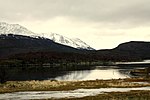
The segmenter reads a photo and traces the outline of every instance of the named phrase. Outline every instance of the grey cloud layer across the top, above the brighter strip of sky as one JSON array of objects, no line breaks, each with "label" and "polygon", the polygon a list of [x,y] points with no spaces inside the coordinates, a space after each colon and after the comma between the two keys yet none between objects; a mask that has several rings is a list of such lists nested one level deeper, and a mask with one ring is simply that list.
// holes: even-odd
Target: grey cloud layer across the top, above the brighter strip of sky
[{"label": "grey cloud layer across the top, above the brighter strip of sky", "polygon": [[150,23],[149,0],[0,0],[0,19],[47,20],[70,16],[84,21]]}]

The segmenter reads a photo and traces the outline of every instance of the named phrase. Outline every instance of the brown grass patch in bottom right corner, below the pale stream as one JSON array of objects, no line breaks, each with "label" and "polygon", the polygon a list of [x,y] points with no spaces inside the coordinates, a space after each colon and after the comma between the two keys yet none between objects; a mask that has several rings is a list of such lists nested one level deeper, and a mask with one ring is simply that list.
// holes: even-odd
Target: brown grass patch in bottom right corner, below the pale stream
[{"label": "brown grass patch in bottom right corner, below the pale stream", "polygon": [[[109,92],[81,98],[62,98],[57,100],[149,100],[150,90],[134,90],[128,92]],[[51,99],[45,99],[51,100]]]}]

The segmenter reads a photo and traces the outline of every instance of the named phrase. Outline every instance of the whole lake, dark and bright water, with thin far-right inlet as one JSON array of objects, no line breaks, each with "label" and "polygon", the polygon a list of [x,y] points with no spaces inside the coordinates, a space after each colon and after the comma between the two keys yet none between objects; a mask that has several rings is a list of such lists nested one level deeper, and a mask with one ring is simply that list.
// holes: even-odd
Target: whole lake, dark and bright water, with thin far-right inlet
[{"label": "whole lake, dark and bright water, with thin far-right inlet", "polygon": [[75,66],[79,69],[74,71],[57,70],[58,68],[52,69],[51,67],[8,68],[6,77],[10,81],[122,79],[134,77],[130,75],[130,71],[134,68],[150,66],[149,60],[143,62],[117,62],[117,64],[121,64],[121,66],[84,66],[84,70],[82,66]]}]

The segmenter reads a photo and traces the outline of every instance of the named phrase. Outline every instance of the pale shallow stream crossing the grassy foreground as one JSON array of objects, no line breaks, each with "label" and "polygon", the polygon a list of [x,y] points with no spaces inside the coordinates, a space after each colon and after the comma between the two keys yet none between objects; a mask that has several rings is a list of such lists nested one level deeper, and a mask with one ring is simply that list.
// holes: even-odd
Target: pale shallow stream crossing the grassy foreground
[{"label": "pale shallow stream crossing the grassy foreground", "polygon": [[[0,94],[0,100],[29,100],[29,99],[61,99],[85,96],[95,96],[104,92],[127,92],[130,90],[150,90],[150,87],[139,88],[100,88],[100,89],[77,89],[71,91],[37,91],[15,92]],[[147,99],[148,100],[148,99]]]}]

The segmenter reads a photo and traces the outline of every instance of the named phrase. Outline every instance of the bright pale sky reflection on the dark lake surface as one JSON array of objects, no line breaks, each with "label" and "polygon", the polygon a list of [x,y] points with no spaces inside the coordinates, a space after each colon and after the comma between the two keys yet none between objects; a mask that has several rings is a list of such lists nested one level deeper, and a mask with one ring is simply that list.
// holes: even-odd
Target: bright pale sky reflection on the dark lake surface
[{"label": "bright pale sky reflection on the dark lake surface", "polygon": [[95,80],[95,79],[119,79],[128,78],[129,69],[117,69],[114,67],[97,66],[92,70],[82,70],[82,71],[69,71],[65,75],[58,76],[55,80]]}]

